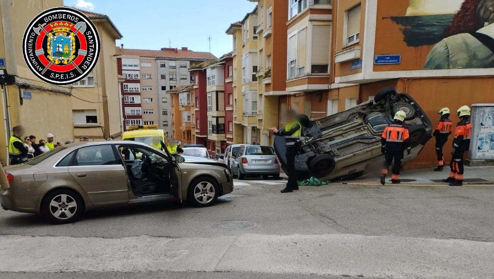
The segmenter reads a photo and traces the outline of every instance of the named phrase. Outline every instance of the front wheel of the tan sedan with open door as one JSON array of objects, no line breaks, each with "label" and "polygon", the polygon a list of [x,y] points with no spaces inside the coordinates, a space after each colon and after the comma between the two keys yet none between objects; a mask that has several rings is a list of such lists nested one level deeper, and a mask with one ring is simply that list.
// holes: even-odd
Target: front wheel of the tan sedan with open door
[{"label": "front wheel of the tan sedan with open door", "polygon": [[210,206],[216,202],[219,193],[220,188],[213,178],[198,177],[189,185],[187,201],[197,207]]}]

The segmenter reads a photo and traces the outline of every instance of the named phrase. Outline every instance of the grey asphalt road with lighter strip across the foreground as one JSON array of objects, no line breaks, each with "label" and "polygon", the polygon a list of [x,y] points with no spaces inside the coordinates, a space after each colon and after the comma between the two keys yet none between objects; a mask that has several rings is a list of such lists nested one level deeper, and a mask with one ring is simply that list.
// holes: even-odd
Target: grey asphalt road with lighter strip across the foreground
[{"label": "grey asphalt road with lighter strip across the foreground", "polygon": [[58,226],[0,209],[0,278],[494,278],[494,186],[282,182]]}]

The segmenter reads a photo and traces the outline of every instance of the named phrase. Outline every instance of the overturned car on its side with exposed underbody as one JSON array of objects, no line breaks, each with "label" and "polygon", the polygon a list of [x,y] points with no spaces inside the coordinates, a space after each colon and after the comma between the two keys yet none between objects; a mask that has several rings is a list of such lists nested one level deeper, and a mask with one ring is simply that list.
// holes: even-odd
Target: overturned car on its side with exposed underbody
[{"label": "overturned car on its side with exposed underbody", "polygon": [[[381,135],[400,110],[407,115],[404,124],[410,131],[412,152],[404,158],[408,161],[417,156],[431,138],[433,126],[410,95],[397,93],[392,87],[381,89],[373,101],[337,114],[313,121],[306,116],[299,117],[302,137],[296,142],[298,178],[355,178],[382,165]],[[274,150],[286,171],[284,137],[275,137]]]}]

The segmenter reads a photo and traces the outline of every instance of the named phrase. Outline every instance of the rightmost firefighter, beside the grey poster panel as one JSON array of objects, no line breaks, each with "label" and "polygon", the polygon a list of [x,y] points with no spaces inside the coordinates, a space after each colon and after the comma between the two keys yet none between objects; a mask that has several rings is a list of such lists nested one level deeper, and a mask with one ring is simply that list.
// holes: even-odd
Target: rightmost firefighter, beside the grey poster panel
[{"label": "rightmost firefighter, beside the grey poster panel", "polygon": [[453,140],[453,148],[451,154],[450,176],[444,179],[443,182],[449,182],[450,186],[463,185],[463,155],[470,148],[470,138],[472,137],[472,123],[470,123],[471,110],[468,106],[463,106],[458,109],[457,115],[460,122],[456,126],[455,139]]}]

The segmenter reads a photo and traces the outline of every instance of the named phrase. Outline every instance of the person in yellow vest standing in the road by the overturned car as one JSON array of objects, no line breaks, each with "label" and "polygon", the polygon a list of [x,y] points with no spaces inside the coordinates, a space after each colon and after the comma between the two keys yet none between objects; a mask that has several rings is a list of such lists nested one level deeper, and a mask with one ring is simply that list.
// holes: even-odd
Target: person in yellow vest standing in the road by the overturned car
[{"label": "person in yellow vest standing in the road by the overturned car", "polygon": [[[276,129],[273,127],[269,129],[276,136],[283,136],[286,138],[300,138],[302,136],[302,125],[297,119],[297,113],[294,110],[289,110],[285,115],[285,127]],[[294,143],[294,142],[290,142]],[[288,181],[286,187],[281,190],[281,193],[293,192],[298,190],[297,184],[297,172],[295,170],[295,156],[297,155],[297,148],[295,144],[286,144],[286,167],[288,168]]]}]

